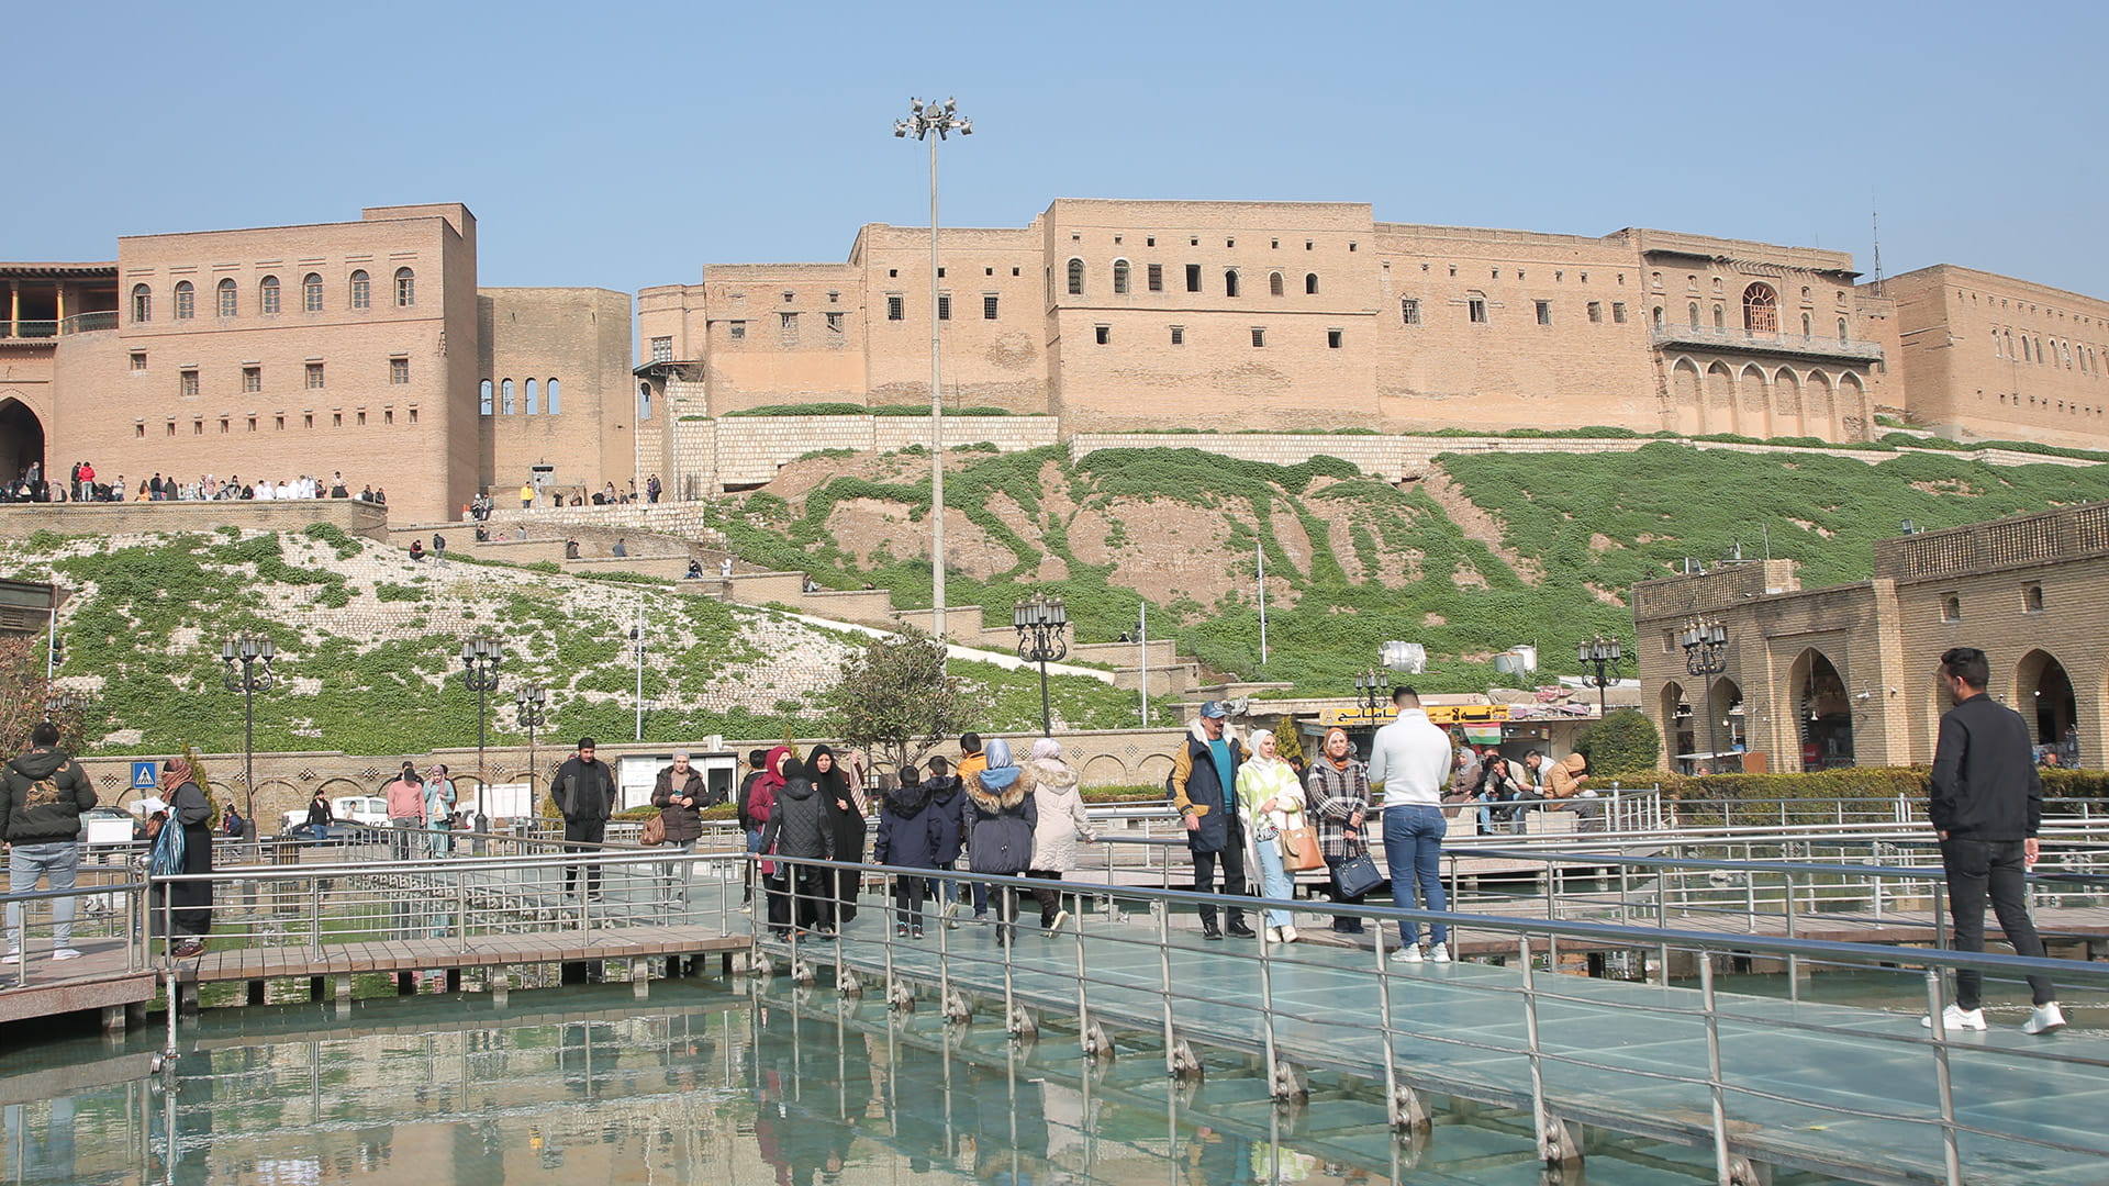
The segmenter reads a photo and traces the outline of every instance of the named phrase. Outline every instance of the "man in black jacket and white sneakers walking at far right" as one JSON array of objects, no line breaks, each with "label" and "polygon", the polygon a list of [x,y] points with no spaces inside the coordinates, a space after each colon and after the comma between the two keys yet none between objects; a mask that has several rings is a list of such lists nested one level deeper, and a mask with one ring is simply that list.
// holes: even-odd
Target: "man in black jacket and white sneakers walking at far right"
[{"label": "man in black jacket and white sneakers walking at far right", "polygon": [[[1940,865],[1949,876],[1949,914],[1955,918],[1955,950],[1985,950],[1985,897],[1999,916],[1999,929],[2014,954],[2044,958],[2044,941],[2029,918],[2027,869],[2035,863],[2035,829],[2044,819],[2044,783],[2035,777],[2029,722],[1985,694],[1991,663],[1974,646],[1949,648],[1940,656],[1940,686],[1955,707],[1940,718],[1934,743],[1932,800],[1928,817],[1940,834]],[[1942,1009],[1942,1030],[1982,1030],[1982,975],[1955,973],[1955,1005]],[[2023,1024],[2029,1034],[2065,1026],[2050,977],[2031,975],[2035,1011]],[[1930,1028],[1934,1017],[1921,1017]]]}]

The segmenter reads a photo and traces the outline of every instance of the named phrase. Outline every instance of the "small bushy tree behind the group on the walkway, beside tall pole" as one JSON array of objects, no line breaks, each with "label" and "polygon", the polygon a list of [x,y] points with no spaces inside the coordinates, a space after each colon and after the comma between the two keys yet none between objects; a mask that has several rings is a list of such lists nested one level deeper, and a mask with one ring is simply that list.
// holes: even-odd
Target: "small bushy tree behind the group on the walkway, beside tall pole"
[{"label": "small bushy tree behind the group on the walkway, beside tall pole", "polygon": [[960,684],[945,673],[945,644],[920,631],[867,642],[825,705],[841,741],[896,770],[966,724]]}]

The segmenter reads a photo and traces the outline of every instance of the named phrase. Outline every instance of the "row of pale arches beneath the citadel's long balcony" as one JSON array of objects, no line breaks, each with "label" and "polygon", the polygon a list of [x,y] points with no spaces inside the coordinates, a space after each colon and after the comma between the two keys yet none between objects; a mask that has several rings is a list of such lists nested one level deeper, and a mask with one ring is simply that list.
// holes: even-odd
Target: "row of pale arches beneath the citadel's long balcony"
[{"label": "row of pale arches beneath the citadel's long balcony", "polygon": [[1670,363],[1670,428],[1685,435],[1738,433],[1744,437],[1858,437],[1866,418],[1866,386],[1845,371],[1831,378],[1793,367],[1765,371],[1757,363],[1731,367],[1715,361],[1700,369],[1687,357]]}]

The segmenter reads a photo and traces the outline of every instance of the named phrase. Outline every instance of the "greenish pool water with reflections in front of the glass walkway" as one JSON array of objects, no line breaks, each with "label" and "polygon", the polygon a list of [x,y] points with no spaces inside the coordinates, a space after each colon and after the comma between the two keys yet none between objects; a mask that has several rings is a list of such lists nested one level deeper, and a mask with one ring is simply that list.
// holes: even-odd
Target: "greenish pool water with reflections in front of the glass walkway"
[{"label": "greenish pool water with reflections in front of the glass walkway", "polygon": [[[1054,1034],[734,983],[219,1011],[186,1028],[173,1091],[148,1072],[158,1034],[15,1051],[0,1182],[1544,1182],[1506,1110],[1451,1104],[1394,1140],[1369,1085],[1274,1108],[1238,1057],[1179,1087],[1149,1049],[1092,1068]],[[1590,1159],[1599,1182],[1713,1178],[1704,1150],[1639,1140]]]}]

